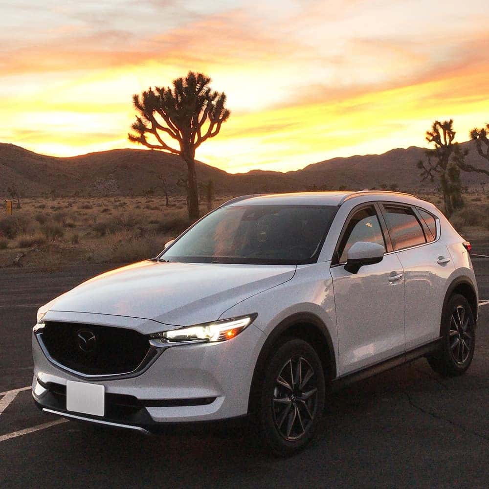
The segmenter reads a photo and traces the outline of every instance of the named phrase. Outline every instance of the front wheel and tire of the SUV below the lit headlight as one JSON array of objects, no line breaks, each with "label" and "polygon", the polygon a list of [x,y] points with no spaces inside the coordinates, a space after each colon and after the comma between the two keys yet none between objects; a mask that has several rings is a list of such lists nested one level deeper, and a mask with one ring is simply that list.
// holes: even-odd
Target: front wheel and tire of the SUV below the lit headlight
[{"label": "front wheel and tire of the SUV below the lit headlight", "polygon": [[262,443],[278,456],[302,450],[320,425],[324,398],[323,365],[312,346],[297,338],[278,343],[267,360],[255,413]]}]

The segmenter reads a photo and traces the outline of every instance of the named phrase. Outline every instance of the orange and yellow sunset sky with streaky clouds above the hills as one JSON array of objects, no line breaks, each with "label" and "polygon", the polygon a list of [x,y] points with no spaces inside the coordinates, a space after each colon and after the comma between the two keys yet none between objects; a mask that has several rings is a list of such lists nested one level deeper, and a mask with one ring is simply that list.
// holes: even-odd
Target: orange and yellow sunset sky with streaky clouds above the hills
[{"label": "orange and yellow sunset sky with streaky clouds above the hills", "polygon": [[189,69],[232,111],[197,158],[229,172],[459,141],[489,122],[485,1],[0,1],[0,141],[135,147],[131,95]]}]

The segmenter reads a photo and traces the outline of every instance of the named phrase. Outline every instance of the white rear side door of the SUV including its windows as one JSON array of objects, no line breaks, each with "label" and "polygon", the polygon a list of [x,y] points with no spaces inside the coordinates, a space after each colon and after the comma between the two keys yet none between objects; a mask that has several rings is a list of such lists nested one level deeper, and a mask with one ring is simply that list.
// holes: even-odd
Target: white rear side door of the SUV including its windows
[{"label": "white rear side door of the SUV including its windows", "polygon": [[406,350],[412,350],[439,337],[445,283],[454,266],[435,216],[399,203],[383,202],[381,209],[404,271]]}]

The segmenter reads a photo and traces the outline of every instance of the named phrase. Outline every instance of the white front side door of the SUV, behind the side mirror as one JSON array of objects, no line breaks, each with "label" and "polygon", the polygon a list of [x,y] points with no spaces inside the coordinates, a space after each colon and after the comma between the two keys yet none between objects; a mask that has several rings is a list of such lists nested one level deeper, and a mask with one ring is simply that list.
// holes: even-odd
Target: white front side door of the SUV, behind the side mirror
[{"label": "white front side door of the SUV, behind the side mirror", "polygon": [[404,352],[404,277],[396,253],[358,273],[344,267],[348,250],[357,241],[382,244],[391,251],[384,234],[378,207],[359,206],[350,214],[333,257],[340,375]]}]

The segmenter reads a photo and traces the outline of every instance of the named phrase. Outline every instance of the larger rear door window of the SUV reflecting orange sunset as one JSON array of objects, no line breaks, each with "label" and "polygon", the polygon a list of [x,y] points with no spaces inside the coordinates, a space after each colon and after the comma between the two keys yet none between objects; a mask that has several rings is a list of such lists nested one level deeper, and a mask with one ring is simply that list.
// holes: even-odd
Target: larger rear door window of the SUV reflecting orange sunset
[{"label": "larger rear door window of the SUV reflecting orange sunset", "polygon": [[426,243],[423,228],[410,207],[384,205],[384,209],[394,250]]}]

